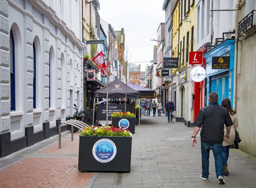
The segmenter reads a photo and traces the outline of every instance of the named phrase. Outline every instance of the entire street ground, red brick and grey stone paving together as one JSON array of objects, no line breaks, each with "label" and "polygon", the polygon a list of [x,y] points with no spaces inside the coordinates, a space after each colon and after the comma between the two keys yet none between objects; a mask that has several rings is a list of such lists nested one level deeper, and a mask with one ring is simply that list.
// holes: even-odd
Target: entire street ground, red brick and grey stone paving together
[{"label": "entire street ground, red brick and grey stone paving together", "polygon": [[[79,133],[71,142],[70,131],[0,158],[0,188],[253,188],[256,187],[256,159],[231,149],[230,175],[225,185],[215,176],[210,155],[209,180],[201,174],[200,138],[192,148],[193,127],[167,122],[167,117],[143,116],[132,140],[130,173],[79,172]],[[120,161],[122,162],[122,161]]]}]

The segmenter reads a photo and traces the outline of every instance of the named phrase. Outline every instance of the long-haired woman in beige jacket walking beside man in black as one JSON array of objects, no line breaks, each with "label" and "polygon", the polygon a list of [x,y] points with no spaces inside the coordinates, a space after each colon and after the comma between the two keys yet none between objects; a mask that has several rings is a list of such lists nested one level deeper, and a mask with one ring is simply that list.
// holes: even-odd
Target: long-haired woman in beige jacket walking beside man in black
[{"label": "long-haired woman in beige jacket walking beside man in black", "polygon": [[[229,156],[229,149],[230,146],[234,143],[236,139],[236,132],[235,128],[238,126],[238,119],[236,116],[236,111],[234,111],[231,107],[231,102],[229,98],[224,98],[223,101],[221,102],[221,106],[227,108],[228,112],[230,113],[230,117],[233,121],[233,125],[231,126],[230,130],[230,139],[225,139],[222,143],[222,159],[223,159],[223,170],[224,170],[224,175],[227,176],[229,174],[228,169],[227,169],[227,159]],[[226,134],[226,126],[224,127],[224,135]]]}]

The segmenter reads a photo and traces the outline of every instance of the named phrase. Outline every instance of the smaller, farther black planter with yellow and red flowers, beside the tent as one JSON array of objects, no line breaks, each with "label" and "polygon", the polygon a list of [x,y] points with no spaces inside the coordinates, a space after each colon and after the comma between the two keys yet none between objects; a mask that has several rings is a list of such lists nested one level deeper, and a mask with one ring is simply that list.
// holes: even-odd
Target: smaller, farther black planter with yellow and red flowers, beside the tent
[{"label": "smaller, farther black planter with yellow and red flowers, beside the tent", "polygon": [[117,128],[128,129],[135,133],[135,114],[130,112],[113,112],[111,114],[112,125]]}]

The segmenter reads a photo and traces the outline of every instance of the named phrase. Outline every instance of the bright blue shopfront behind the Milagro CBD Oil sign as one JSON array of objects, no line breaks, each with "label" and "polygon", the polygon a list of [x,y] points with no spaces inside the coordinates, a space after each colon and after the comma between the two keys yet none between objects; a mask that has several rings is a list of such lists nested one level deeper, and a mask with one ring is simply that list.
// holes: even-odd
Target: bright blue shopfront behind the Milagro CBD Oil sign
[{"label": "bright blue shopfront behind the Milagro CBD Oil sign", "polygon": [[[235,40],[226,39],[204,54],[206,59],[207,99],[209,98],[209,93],[216,92],[219,95],[219,104],[224,98],[229,98],[231,104],[233,104],[234,53]],[[229,56],[229,58],[223,58],[226,56]],[[229,59],[230,67],[228,69],[215,69],[216,67],[212,66],[213,57]],[[223,61],[219,61],[219,63],[221,64]],[[208,100],[207,104],[209,104]]]}]

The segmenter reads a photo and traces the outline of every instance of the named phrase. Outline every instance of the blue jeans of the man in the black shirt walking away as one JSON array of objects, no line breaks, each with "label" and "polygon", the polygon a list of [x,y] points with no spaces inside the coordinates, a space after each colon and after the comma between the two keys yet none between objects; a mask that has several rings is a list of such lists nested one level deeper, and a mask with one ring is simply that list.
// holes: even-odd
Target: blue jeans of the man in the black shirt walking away
[{"label": "blue jeans of the man in the black shirt walking away", "polygon": [[201,142],[202,153],[202,175],[205,178],[209,177],[209,153],[212,146],[212,153],[215,160],[215,172],[218,176],[223,176],[223,161],[222,161],[222,143],[221,144],[209,144]]}]

